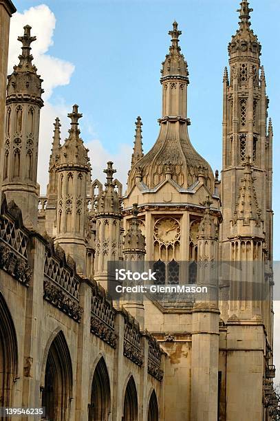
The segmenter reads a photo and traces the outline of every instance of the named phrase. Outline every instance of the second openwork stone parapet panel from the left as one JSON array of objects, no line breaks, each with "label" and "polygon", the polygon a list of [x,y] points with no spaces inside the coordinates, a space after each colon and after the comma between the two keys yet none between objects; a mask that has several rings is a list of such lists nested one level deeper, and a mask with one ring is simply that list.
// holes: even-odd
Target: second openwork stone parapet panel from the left
[{"label": "second openwork stone parapet panel from the left", "polygon": [[44,264],[44,299],[54,307],[79,322],[83,309],[78,305],[80,281],[76,266],[71,257],[65,258],[60,246],[54,248],[50,237],[45,236],[48,244],[45,248]]}]

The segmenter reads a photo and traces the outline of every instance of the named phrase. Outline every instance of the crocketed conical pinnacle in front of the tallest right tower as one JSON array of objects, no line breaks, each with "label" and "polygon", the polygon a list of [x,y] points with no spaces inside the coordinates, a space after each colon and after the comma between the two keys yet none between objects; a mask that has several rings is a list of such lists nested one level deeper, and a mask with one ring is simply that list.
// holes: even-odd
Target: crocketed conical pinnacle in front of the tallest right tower
[{"label": "crocketed conical pinnacle in front of the tallest right tower", "polygon": [[247,156],[244,162],[244,176],[240,180],[236,219],[246,219],[248,221],[249,219],[259,220],[261,218],[254,180],[250,156]]}]

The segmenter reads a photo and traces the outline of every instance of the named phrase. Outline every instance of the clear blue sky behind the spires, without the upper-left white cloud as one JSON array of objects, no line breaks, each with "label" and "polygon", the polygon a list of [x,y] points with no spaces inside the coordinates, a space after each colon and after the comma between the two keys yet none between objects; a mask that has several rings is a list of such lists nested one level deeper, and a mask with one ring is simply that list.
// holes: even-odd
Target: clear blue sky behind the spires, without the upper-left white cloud
[{"label": "clear blue sky behind the spires, without the upper-left white cloud", "polygon": [[[239,0],[20,0],[19,12],[42,3],[56,17],[47,54],[75,66],[69,84],[58,86],[49,102],[80,105],[85,142],[98,139],[107,154],[133,144],[134,122],[143,122],[144,149],[158,136],[161,114],[160,69],[168,52],[173,20],[182,30],[180,45],[189,64],[188,116],[191,141],[213,170],[222,161],[222,74],[228,42],[238,27]],[[252,0],[252,29],[262,45],[269,116],[274,127],[274,259],[280,259],[279,0]],[[42,74],[43,78],[44,75]],[[50,136],[45,142],[50,144]],[[125,145],[125,146],[124,146]],[[98,153],[91,151],[92,160]],[[125,155],[124,155],[125,156]],[[124,159],[124,166],[128,160]],[[121,162],[121,159],[120,159]],[[104,168],[101,162],[100,168]],[[96,178],[99,174],[94,174]],[[279,342],[280,347],[280,342]],[[280,353],[279,353],[280,354]]]}]

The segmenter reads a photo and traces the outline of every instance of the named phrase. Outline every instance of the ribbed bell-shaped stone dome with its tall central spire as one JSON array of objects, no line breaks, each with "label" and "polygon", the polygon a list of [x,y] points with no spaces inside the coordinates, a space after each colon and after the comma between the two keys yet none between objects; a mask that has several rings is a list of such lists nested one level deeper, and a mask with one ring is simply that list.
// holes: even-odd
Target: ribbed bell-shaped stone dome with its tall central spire
[{"label": "ribbed bell-shaped stone dome with its tall central spire", "polygon": [[187,87],[189,71],[179,46],[181,31],[177,22],[169,31],[171,46],[162,63],[162,118],[160,134],[151,151],[137,162],[133,161],[129,173],[128,192],[142,181],[149,188],[158,186],[166,177],[180,187],[188,188],[204,174],[208,188],[213,191],[214,177],[211,167],[193,148],[189,139],[187,118]]}]

